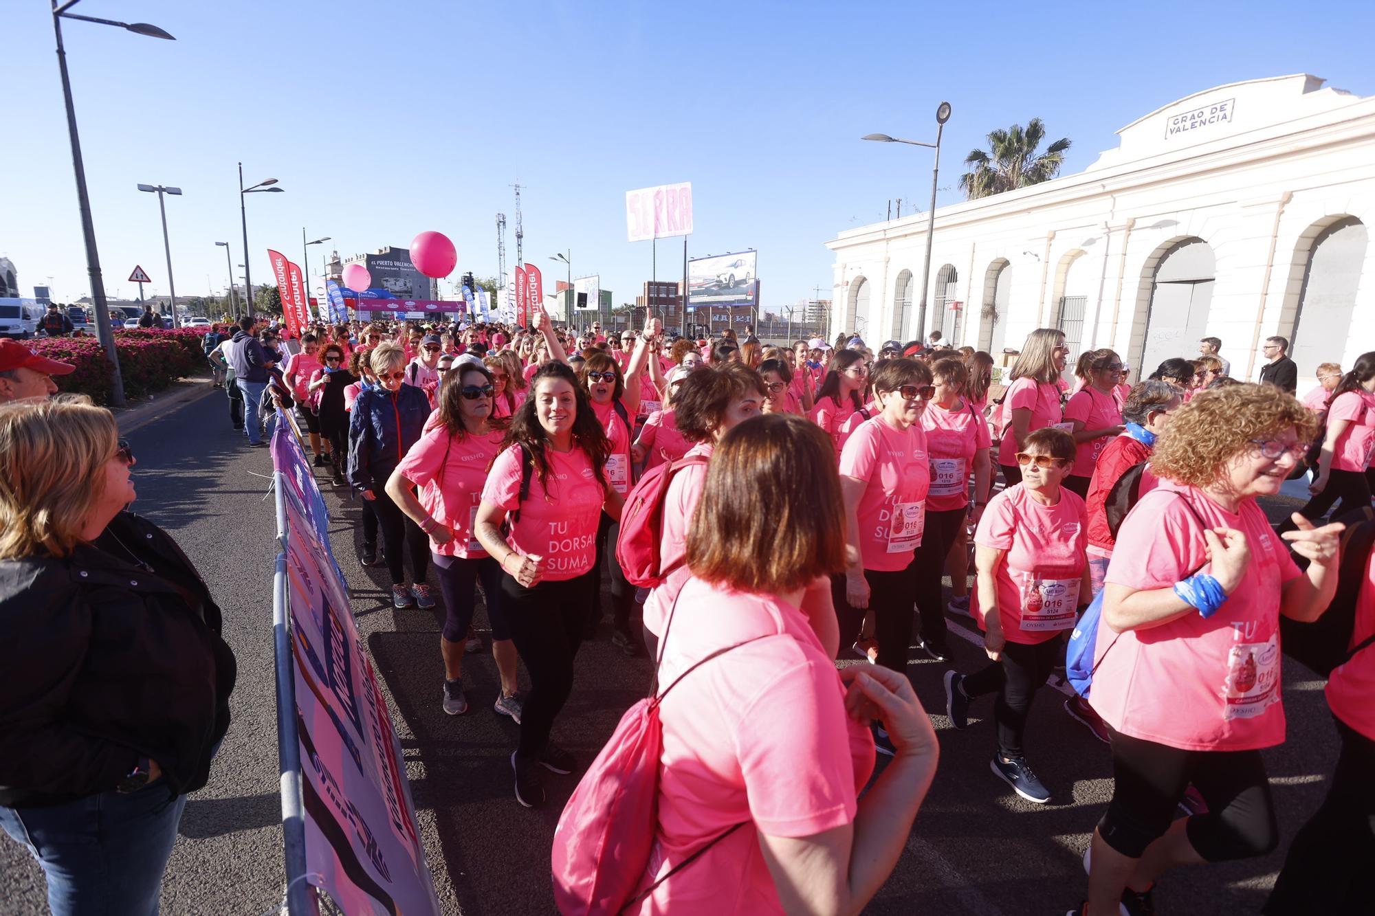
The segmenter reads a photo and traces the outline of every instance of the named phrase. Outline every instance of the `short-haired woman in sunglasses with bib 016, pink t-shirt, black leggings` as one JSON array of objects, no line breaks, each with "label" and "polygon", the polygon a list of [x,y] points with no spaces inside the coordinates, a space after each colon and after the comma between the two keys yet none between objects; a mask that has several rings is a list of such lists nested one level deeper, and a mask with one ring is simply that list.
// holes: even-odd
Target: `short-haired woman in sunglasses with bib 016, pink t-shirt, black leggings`
[{"label": "short-haired woman in sunglasses with bib 016, pink t-shirt, black leggings", "polygon": [[1074,464],[1074,437],[1045,428],[1027,435],[1016,462],[1022,481],[989,501],[975,530],[974,619],[993,662],[982,671],[946,671],[946,712],[968,725],[969,700],[997,693],[994,776],[1037,805],[1050,792],[1027,765],[1023,737],[1037,690],[1060,659],[1060,634],[1089,602],[1088,514],[1063,486]]}]

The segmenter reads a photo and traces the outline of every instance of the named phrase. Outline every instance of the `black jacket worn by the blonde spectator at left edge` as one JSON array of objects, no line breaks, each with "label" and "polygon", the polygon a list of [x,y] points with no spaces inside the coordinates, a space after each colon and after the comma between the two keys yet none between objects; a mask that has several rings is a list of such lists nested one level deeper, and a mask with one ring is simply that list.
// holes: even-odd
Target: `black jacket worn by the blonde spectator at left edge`
[{"label": "black jacket worn by the blonde spectator at left edge", "polygon": [[176,794],[209,778],[235,679],[220,608],[161,528],[107,532],[154,572],[92,545],[0,561],[0,805],[110,791],[142,756]]}]

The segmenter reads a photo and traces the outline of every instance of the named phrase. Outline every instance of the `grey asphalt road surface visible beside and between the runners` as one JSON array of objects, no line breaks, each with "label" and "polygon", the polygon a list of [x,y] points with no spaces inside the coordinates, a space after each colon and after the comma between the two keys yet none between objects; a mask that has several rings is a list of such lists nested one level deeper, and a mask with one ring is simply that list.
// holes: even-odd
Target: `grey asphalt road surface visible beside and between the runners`
[{"label": "grey asphalt road surface visible beside and between the runners", "polygon": [[[224,608],[226,637],[239,660],[234,723],[210,784],[187,805],[162,912],[256,916],[274,909],[283,887],[270,597],[274,514],[272,501],[263,499],[267,480],[256,476],[271,468],[267,450],[246,448],[221,407],[212,395],[129,439],[139,455],[135,509],[168,528],[198,564]],[[444,912],[551,913],[550,840],[575,776],[549,776],[542,810],[514,800],[507,756],[517,726],[490,708],[498,688],[491,655],[466,657],[470,711],[444,715],[439,611],[392,611],[385,571],[358,563],[356,505],[327,486],[326,502],[336,557],[402,741]],[[965,618],[952,622],[972,630]],[[485,627],[481,612],[477,626]],[[580,651],[573,696],[554,729],[556,740],[583,762],[650,677],[649,663],[622,656],[608,634],[604,624]],[[953,642],[961,671],[983,663],[976,645]],[[1081,854],[1111,796],[1107,747],[1064,714],[1064,696],[1048,685],[1031,712],[1027,754],[1055,800],[1023,802],[989,772],[991,697],[975,701],[967,732],[953,732],[940,714],[940,675],[949,666],[918,655],[913,652],[909,670],[940,733],[940,767],[906,851],[866,912],[1064,913],[1082,898]],[[1321,685],[1288,663],[1284,677],[1288,741],[1265,755],[1280,851],[1169,875],[1156,893],[1160,912],[1257,912],[1290,838],[1320,802],[1336,750]],[[0,899],[6,913],[45,912],[41,872],[8,840],[0,840]]]}]

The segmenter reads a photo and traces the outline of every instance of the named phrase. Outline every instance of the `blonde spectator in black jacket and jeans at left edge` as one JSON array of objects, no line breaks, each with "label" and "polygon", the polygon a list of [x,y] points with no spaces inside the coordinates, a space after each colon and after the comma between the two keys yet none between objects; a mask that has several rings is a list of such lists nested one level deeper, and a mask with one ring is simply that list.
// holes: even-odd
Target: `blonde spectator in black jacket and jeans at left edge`
[{"label": "blonde spectator in black jacket and jeans at left edge", "polygon": [[0,827],[43,866],[56,916],[157,912],[230,725],[220,608],[126,512],[135,459],[117,436],[84,396],[0,406]]}]

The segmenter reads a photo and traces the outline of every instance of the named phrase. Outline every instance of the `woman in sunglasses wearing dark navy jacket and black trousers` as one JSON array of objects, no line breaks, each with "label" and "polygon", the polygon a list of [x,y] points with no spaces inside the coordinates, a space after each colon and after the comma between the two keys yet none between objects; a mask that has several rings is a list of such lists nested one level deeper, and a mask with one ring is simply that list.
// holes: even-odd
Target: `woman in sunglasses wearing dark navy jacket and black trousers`
[{"label": "woman in sunglasses wearing dark navy jacket and black trousers", "polygon": [[[429,538],[386,495],[384,486],[406,452],[419,441],[430,406],[425,392],[406,384],[406,352],[396,344],[378,344],[368,351],[377,373],[377,388],[359,392],[349,417],[348,479],[363,499],[373,503],[382,534],[386,571],[392,576],[392,607],[433,608],[425,572],[429,568]],[[403,543],[408,550],[403,550]],[[410,553],[412,585],[406,586],[403,554]]]}]

